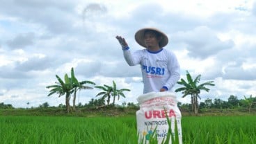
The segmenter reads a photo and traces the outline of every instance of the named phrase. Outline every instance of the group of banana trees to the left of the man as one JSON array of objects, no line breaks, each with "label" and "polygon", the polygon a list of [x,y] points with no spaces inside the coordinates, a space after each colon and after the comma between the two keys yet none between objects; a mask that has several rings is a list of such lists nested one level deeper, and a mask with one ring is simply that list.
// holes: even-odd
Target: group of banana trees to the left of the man
[{"label": "group of banana trees to the left of the man", "polygon": [[[84,80],[79,82],[77,78],[74,75],[74,68],[71,69],[71,77],[67,75],[67,73],[64,75],[64,80],[62,80],[58,75],[56,75],[56,78],[58,82],[55,82],[56,84],[47,86],[47,89],[50,89],[50,93],[48,96],[51,96],[54,93],[58,94],[58,97],[65,95],[65,107],[67,113],[70,111],[76,110],[76,98],[77,98],[77,91],[80,91],[81,89],[101,89],[102,91],[99,92],[97,96],[102,96],[102,101],[106,99],[107,106],[111,105],[110,100],[113,97],[112,105],[115,105],[115,98],[120,98],[120,96],[125,98],[124,91],[130,91],[130,89],[117,89],[115,81],[113,81],[113,85],[109,86],[107,84],[104,84],[103,86],[95,86],[95,82],[91,82],[89,80]],[[85,85],[90,84],[90,86]],[[70,107],[70,98],[73,96],[73,106]],[[102,103],[101,107],[105,107],[106,105]]]}]

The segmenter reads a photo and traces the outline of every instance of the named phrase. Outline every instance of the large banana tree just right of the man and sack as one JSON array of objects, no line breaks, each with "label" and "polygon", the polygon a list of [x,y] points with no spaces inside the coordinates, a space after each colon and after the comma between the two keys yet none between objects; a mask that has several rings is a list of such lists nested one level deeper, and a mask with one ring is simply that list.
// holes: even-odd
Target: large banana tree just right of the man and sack
[{"label": "large banana tree just right of the man and sack", "polygon": [[[181,79],[177,84],[183,85],[184,87],[180,87],[175,90],[175,92],[182,91],[182,98],[191,95],[191,105],[194,114],[198,114],[198,98],[200,98],[199,94],[201,90],[209,91],[209,89],[205,86],[214,86],[214,81],[204,82],[202,84],[197,85],[200,82],[201,75],[198,75],[195,80],[191,78],[189,71],[186,71],[186,82],[184,79]],[[201,99],[201,98],[200,98]]]}]

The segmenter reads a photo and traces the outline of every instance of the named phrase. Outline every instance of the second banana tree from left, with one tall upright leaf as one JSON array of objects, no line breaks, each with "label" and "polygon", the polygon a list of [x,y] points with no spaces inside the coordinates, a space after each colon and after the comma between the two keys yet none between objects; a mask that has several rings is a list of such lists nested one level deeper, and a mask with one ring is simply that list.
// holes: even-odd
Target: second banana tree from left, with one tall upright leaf
[{"label": "second banana tree from left, with one tall upright leaf", "polygon": [[84,80],[82,82],[79,82],[77,78],[74,76],[74,68],[71,69],[71,80],[73,84],[73,91],[74,92],[74,97],[73,97],[73,110],[76,110],[76,98],[77,98],[77,91],[80,91],[81,89],[93,89],[93,87],[88,87],[83,84],[94,84],[94,82],[90,82],[88,80]]}]

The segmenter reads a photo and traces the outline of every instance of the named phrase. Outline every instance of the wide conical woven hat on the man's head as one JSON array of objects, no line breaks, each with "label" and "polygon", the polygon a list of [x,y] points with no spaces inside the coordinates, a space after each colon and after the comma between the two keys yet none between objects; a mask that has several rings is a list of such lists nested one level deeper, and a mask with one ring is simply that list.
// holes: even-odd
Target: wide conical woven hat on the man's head
[{"label": "wide conical woven hat on the man's head", "polygon": [[141,30],[138,30],[135,33],[135,40],[139,45],[147,48],[147,46],[145,45],[145,41],[144,41],[145,30],[154,30],[161,35],[161,40],[159,42],[160,48],[163,48],[164,46],[166,46],[168,44],[168,37],[165,33],[161,32],[161,30],[158,30],[157,28],[142,28]]}]

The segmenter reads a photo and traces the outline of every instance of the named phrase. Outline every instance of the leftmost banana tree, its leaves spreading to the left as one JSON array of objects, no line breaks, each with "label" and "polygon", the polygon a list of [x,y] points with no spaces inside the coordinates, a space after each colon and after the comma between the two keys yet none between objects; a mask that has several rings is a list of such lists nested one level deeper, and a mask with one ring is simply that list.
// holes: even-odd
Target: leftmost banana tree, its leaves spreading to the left
[{"label": "leftmost banana tree, its leaves spreading to the left", "polygon": [[72,93],[72,89],[73,89],[73,84],[72,84],[72,80],[70,78],[68,78],[67,73],[64,76],[64,81],[61,80],[61,78],[56,75],[56,78],[58,80],[58,82],[56,82],[55,85],[50,85],[47,86],[47,89],[52,88],[48,94],[48,96],[51,96],[54,93],[58,94],[58,97],[61,97],[63,95],[65,95],[65,103],[66,103],[66,111],[67,113],[70,112],[70,95]]}]

